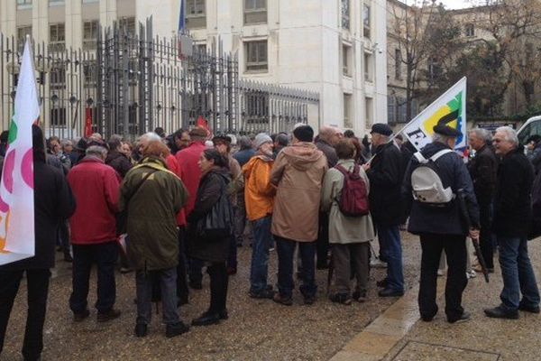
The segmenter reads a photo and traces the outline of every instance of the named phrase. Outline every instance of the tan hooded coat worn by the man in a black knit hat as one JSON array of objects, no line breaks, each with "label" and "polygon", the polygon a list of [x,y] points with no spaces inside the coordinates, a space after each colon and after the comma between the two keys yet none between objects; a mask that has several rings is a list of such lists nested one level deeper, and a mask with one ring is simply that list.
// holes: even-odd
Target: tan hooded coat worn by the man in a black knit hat
[{"label": "tan hooded coat worn by the man in a black knit hat", "polygon": [[316,240],[326,170],[326,157],[313,143],[295,143],[278,154],[271,171],[271,183],[278,187],[272,213],[273,235],[298,242]]}]

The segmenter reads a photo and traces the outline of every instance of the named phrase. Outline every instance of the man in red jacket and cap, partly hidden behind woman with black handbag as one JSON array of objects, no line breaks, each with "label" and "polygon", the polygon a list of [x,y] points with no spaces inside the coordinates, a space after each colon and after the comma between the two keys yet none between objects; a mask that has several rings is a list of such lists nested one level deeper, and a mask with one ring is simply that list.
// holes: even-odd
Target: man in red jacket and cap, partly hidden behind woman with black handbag
[{"label": "man in red jacket and cap, partly hidden behind woman with black handbag", "polygon": [[[181,180],[188,190],[188,204],[186,205],[186,217],[194,209],[196,204],[197,188],[199,187],[199,180],[201,180],[201,170],[197,165],[201,153],[205,151],[206,130],[200,127],[195,127],[189,132],[191,143],[188,148],[177,152],[175,155],[177,161],[179,161]],[[200,290],[202,288],[201,282],[203,280],[203,273],[201,268],[203,264],[197,260],[189,260],[189,285],[195,289]]]}]

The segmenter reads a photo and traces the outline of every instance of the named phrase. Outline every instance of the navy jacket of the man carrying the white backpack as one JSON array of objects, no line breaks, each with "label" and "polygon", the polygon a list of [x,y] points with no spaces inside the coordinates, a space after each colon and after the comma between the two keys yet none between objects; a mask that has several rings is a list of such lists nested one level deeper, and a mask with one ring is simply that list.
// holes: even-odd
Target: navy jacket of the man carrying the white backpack
[{"label": "navy jacket of the man carrying the white backpack", "polygon": [[[430,158],[437,152],[448,149],[443,143],[429,143],[421,151],[425,158]],[[408,231],[415,235],[434,233],[441,235],[466,236],[468,229],[465,226],[460,212],[459,202],[454,200],[445,208],[430,207],[413,199],[411,187],[411,173],[417,167],[418,162],[414,157],[409,162],[408,170],[402,184],[402,199],[404,208],[409,213]],[[457,153],[447,153],[436,161],[444,187],[451,187],[454,194],[463,190],[469,202],[472,225],[479,225],[479,206],[473,193],[473,184],[466,165]],[[410,210],[410,211],[409,211]]]}]

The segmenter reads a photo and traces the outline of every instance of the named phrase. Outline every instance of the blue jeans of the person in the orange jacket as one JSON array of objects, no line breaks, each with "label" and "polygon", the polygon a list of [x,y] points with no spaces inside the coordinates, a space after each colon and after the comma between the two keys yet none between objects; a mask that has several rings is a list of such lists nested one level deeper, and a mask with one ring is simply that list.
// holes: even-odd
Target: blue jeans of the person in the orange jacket
[{"label": "blue jeans of the person in the orange jacket", "polygon": [[267,287],[269,271],[269,249],[272,244],[271,216],[252,222],[252,265],[250,268],[250,283],[252,292],[262,292]]}]

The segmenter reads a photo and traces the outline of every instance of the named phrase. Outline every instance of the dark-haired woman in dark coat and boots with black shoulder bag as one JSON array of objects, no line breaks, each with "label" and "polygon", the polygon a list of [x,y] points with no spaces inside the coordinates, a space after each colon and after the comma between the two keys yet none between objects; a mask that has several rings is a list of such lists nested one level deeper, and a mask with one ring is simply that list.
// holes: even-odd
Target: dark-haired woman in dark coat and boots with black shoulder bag
[{"label": "dark-haired woman in dark coat and boots with black shoulder bag", "polygon": [[[197,189],[196,207],[188,217],[188,255],[204,261],[210,276],[210,307],[199,318],[192,321],[193,326],[216,324],[227,319],[225,302],[227,299],[227,267],[225,261],[229,251],[231,235],[203,238],[197,232],[197,222],[206,217],[221,196],[227,192],[231,182],[228,161],[215,149],[207,149],[198,162],[201,180]],[[229,197],[225,197],[227,201]],[[231,225],[230,229],[233,229]]]}]

